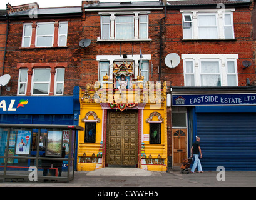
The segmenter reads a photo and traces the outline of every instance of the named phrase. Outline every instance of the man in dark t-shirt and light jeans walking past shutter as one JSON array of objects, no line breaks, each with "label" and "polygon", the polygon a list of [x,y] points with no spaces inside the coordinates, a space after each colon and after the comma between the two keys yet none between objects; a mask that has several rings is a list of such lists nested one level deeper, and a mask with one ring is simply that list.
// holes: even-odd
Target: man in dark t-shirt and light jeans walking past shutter
[{"label": "man in dark t-shirt and light jeans walking past shutter", "polygon": [[200,154],[200,158],[202,158],[200,138],[197,137],[196,141],[192,144],[192,148],[191,148],[191,157],[192,156],[194,157],[194,164],[192,166],[190,173],[195,173],[195,168],[198,168],[198,173],[203,173],[203,169],[199,159],[199,154]]}]

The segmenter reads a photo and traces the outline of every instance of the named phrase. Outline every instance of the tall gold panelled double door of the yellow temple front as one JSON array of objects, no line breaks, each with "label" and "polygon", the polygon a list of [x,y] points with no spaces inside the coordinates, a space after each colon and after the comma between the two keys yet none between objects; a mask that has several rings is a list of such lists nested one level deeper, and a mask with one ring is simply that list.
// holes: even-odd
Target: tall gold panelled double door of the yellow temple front
[{"label": "tall gold panelled double door of the yellow temple front", "polygon": [[136,166],[138,164],[138,112],[108,112],[106,164]]}]

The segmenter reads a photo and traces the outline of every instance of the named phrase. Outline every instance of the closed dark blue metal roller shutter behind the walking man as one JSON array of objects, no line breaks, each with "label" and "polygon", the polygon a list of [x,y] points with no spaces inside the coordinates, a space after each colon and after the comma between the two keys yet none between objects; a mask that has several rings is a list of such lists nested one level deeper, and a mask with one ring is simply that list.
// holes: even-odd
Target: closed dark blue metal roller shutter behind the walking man
[{"label": "closed dark blue metal roller shutter behind the walking man", "polygon": [[256,170],[256,114],[197,113],[203,170]]}]

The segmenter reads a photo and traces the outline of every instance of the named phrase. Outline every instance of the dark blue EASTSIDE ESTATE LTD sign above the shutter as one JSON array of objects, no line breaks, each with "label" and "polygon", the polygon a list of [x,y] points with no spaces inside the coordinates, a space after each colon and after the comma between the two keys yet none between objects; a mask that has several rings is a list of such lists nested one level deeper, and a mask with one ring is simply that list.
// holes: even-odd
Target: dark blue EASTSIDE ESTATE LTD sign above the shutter
[{"label": "dark blue EASTSIDE ESTATE LTD sign above the shutter", "polygon": [[172,95],[172,106],[256,105],[256,94],[180,94]]}]

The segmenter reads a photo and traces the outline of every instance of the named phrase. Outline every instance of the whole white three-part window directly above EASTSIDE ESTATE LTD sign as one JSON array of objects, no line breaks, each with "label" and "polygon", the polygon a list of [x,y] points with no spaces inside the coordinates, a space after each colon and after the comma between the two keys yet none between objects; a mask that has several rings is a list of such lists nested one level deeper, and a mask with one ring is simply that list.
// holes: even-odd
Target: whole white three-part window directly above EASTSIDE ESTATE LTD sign
[{"label": "whole white three-part window directly above EASTSIDE ESTATE LTD sign", "polygon": [[238,86],[238,54],[183,54],[185,86]]}]

